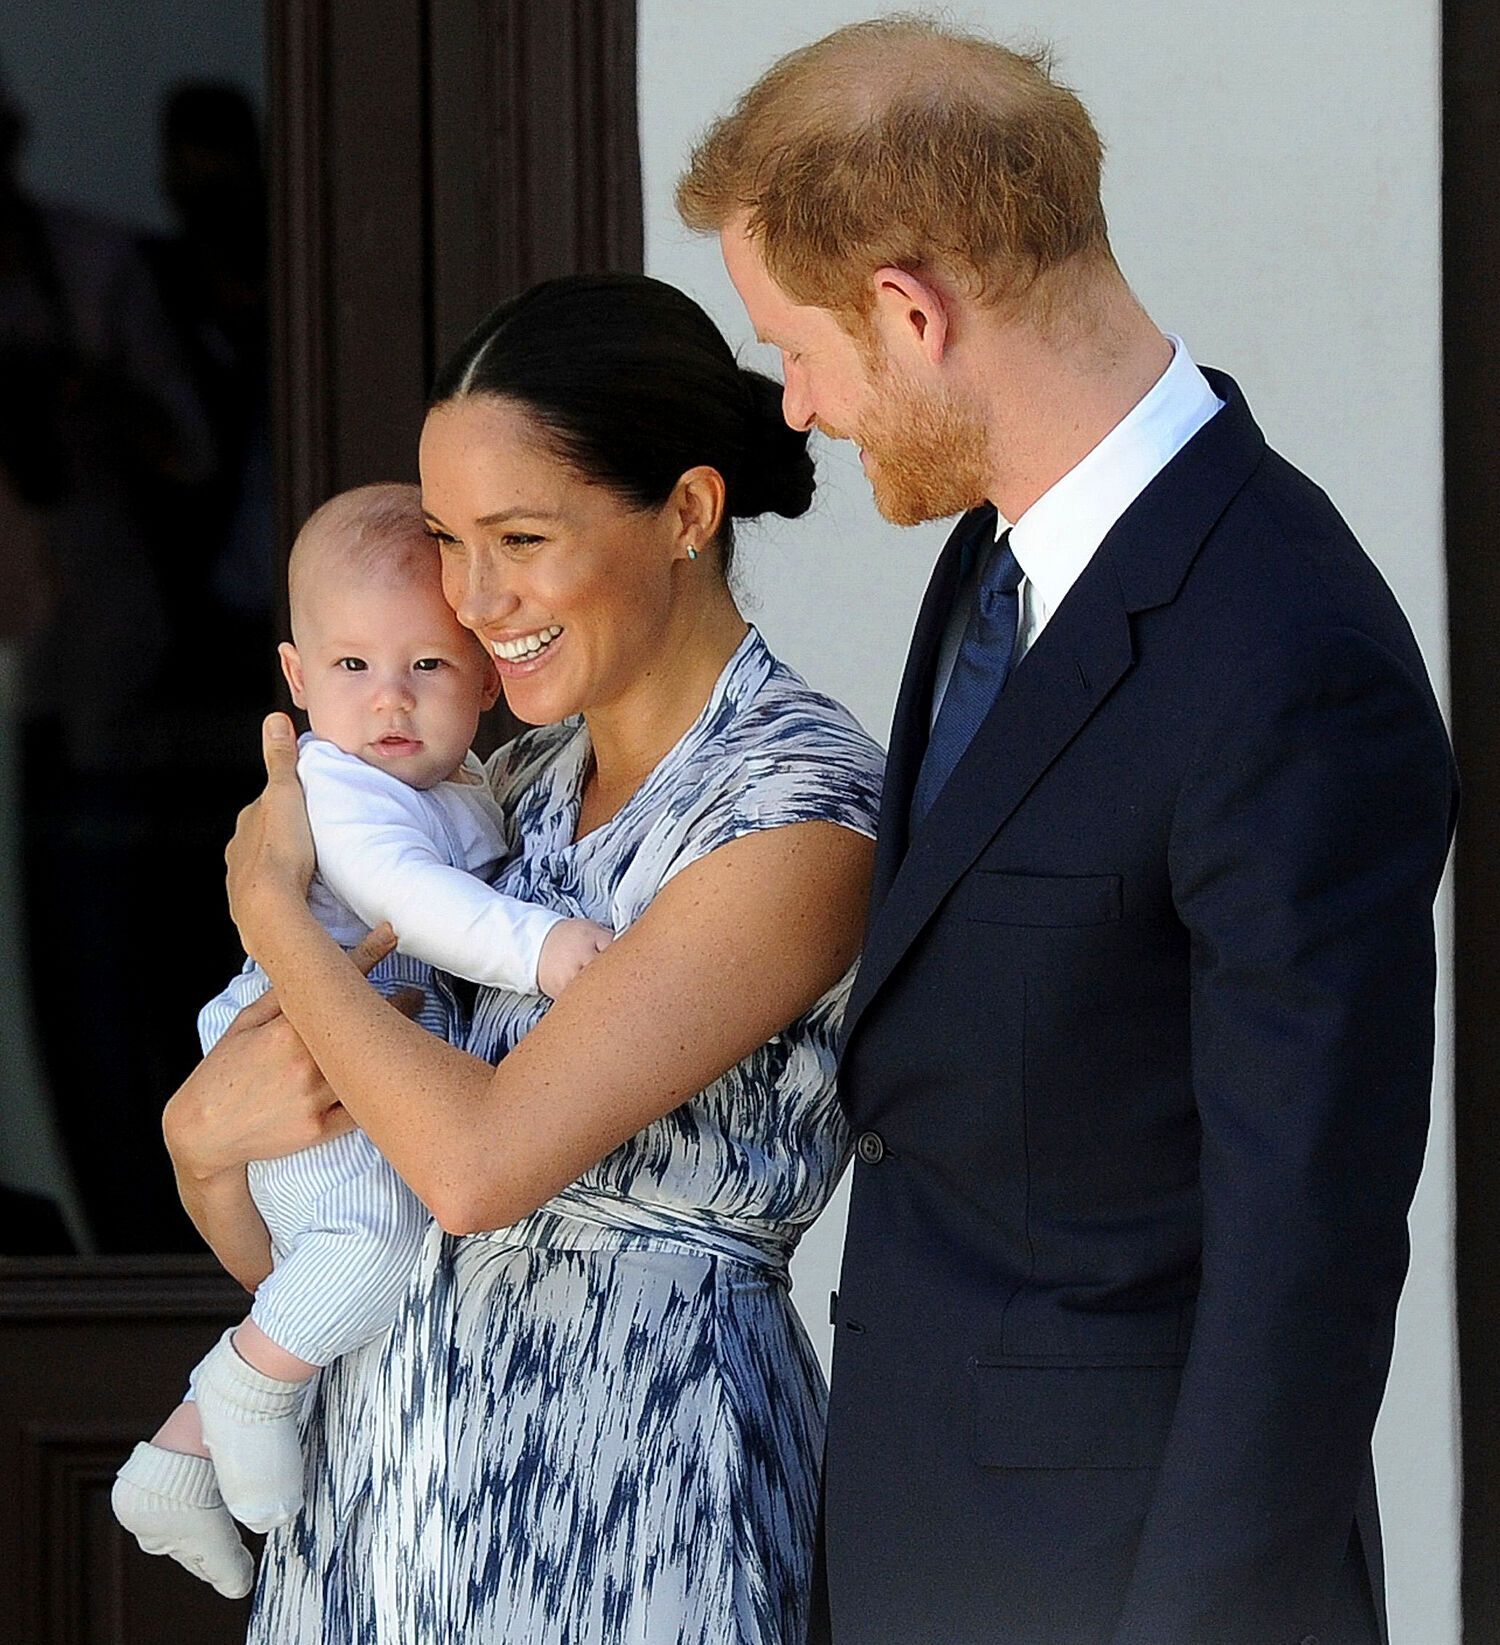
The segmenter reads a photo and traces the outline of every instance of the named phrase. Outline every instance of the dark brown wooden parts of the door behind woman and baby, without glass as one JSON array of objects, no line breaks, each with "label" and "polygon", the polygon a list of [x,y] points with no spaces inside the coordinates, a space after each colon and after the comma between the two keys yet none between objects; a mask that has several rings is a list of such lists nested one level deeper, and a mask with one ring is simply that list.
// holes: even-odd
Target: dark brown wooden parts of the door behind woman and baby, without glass
[{"label": "dark brown wooden parts of the door behind woman and baby, without glass", "polygon": [[[635,3],[271,0],[268,117],[285,554],[331,492],[414,477],[434,364],[488,308],[640,268]],[[207,1257],[0,1258],[0,1640],[243,1638],[109,1487],[245,1301]]]}]

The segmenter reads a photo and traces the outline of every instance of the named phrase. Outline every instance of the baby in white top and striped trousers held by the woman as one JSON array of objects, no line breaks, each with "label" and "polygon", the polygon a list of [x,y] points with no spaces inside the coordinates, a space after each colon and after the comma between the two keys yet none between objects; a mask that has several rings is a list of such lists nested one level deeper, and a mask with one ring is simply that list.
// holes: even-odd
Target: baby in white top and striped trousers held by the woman
[{"label": "baby in white top and striped trousers held by the woman", "polygon": [[[324,503],[293,544],[289,581],[281,668],[312,727],[298,776],[317,850],[308,895],[324,928],[352,948],[390,921],[398,951],[370,980],[421,989],[436,1033],[447,1013],[433,967],[556,997],[610,933],[487,883],[505,826],[469,745],[500,681],[442,599],[416,487],[365,485]],[[247,961],[199,1017],[204,1051],[266,987]],[[235,1599],[253,1564],[230,1515],[252,1530],[296,1515],[303,1390],[390,1328],[431,1222],[363,1132],[253,1163],[248,1179],[275,1270],[112,1495],[146,1553],[169,1553]]]}]

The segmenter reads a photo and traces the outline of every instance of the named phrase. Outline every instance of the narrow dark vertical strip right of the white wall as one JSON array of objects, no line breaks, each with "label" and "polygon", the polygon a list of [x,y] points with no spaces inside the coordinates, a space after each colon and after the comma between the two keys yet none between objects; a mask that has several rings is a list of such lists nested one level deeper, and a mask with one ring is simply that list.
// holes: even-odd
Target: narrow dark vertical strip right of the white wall
[{"label": "narrow dark vertical strip right of the white wall", "polygon": [[1500,1645],[1500,8],[1442,8],[1442,378],[1452,725],[1464,1640]]}]

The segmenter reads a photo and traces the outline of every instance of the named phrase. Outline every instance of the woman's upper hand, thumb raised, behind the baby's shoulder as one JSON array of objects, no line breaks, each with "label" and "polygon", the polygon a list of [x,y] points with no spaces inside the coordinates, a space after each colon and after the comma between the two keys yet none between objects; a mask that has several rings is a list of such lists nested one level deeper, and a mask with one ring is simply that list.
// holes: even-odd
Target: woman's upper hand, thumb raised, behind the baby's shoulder
[{"label": "woman's upper hand, thumb raised, behind the baby's shoulder", "polygon": [[308,804],[296,775],[296,737],[285,714],[268,714],[262,730],[266,786],[238,816],[224,852],[229,913],[245,952],[255,956],[268,921],[304,911],[316,857]]}]

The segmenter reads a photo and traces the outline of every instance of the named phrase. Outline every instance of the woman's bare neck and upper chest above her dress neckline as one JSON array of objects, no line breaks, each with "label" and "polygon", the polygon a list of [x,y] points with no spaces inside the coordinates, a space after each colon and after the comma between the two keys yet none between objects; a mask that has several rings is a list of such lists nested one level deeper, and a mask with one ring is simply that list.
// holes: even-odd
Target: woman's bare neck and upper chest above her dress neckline
[{"label": "woman's bare neck and upper chest above her dress neckline", "polygon": [[646,670],[630,691],[584,719],[592,745],[592,772],[584,785],[579,836],[607,822],[704,711],[725,663],[748,632],[725,591],[673,632],[661,668]]}]

